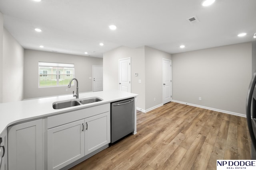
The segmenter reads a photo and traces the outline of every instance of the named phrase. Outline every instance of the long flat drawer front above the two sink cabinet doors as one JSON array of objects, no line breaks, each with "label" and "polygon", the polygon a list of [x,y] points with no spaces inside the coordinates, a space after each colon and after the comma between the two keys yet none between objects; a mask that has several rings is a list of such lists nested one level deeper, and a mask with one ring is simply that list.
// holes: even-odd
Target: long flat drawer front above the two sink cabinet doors
[{"label": "long flat drawer front above the two sink cabinet doors", "polygon": [[110,104],[71,111],[47,118],[47,129],[110,111]]}]

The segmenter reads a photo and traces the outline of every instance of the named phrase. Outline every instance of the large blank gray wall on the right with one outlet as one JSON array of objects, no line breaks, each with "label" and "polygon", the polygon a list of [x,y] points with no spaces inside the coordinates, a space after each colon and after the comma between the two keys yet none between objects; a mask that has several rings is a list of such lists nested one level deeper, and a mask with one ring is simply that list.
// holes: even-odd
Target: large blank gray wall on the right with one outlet
[{"label": "large blank gray wall on the right with one outlet", "polygon": [[251,42],[172,55],[176,101],[245,115],[251,77]]}]

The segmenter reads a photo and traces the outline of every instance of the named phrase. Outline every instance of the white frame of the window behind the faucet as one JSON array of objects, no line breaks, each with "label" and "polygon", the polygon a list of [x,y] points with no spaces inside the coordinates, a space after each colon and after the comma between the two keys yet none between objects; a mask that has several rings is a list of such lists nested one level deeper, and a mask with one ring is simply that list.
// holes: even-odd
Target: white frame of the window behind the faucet
[{"label": "white frame of the window behind the faucet", "polygon": [[[48,66],[48,67],[51,67],[51,66],[54,66],[54,67],[57,67],[57,70],[56,70],[56,84],[55,86],[40,86],[40,77],[42,77],[43,75],[45,74],[40,74],[40,67],[44,67],[44,66]],[[75,65],[74,64],[66,64],[66,63],[48,63],[48,62],[38,62],[38,88],[48,88],[48,87],[61,87],[61,86],[67,86],[66,84],[65,85],[60,85],[59,84],[59,81],[60,81],[60,76],[61,75],[65,75],[66,74],[60,74],[60,70],[59,68],[60,67],[64,67],[64,68],[70,68],[73,71],[73,74],[71,74],[71,71],[69,70],[69,76],[73,75],[73,77],[75,78]],[[47,76],[44,76],[44,77],[48,77],[48,70],[41,70],[41,71],[46,71],[47,72]],[[41,76],[42,75],[42,76]],[[74,86],[74,82],[72,82],[71,84],[72,86]]]}]

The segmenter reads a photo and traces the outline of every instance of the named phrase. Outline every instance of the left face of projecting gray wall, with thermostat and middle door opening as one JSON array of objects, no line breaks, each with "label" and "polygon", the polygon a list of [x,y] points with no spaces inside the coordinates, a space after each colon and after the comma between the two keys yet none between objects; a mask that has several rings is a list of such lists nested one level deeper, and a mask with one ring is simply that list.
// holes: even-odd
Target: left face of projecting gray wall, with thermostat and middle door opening
[{"label": "left face of projecting gray wall, with thermostat and middle door opening", "polygon": [[[131,92],[138,94],[137,107],[145,109],[144,47],[118,47],[103,54],[103,90],[118,90],[118,60],[131,58]],[[134,76],[138,73],[138,76]],[[138,80],[142,80],[138,83]]]}]

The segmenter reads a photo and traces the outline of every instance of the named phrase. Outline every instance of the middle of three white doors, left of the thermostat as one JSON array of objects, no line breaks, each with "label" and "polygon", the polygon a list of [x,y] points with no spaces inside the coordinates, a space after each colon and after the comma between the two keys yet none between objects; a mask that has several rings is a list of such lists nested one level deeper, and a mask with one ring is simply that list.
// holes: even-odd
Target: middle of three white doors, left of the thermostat
[{"label": "middle of three white doors, left of the thermostat", "polygon": [[119,90],[131,92],[131,58],[119,60]]}]

